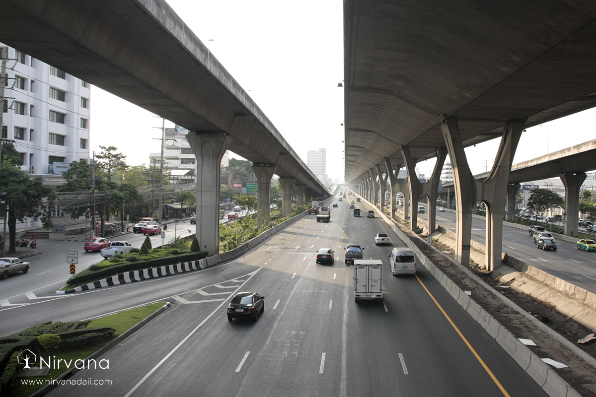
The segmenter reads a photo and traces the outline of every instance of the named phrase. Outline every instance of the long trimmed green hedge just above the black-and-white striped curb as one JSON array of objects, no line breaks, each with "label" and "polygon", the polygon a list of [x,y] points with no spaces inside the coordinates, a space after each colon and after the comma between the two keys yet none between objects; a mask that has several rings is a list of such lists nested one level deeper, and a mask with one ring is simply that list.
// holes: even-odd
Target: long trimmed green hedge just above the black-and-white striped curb
[{"label": "long trimmed green hedge just above the black-and-white striped curb", "polygon": [[207,251],[190,252],[188,254],[173,255],[171,257],[155,258],[138,262],[121,262],[113,266],[100,267],[98,270],[91,270],[89,267],[77,274],[74,279],[69,279],[67,285],[84,284],[115,276],[116,274],[126,273],[132,270],[141,270],[150,267],[161,267],[178,262],[193,262],[207,257]]}]

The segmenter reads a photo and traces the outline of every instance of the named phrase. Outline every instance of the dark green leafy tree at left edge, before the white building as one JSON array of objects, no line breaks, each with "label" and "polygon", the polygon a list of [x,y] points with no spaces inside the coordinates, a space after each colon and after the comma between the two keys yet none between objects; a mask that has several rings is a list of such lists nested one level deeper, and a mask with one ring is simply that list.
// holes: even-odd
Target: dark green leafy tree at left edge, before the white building
[{"label": "dark green leafy tree at left edge, before the white building", "polygon": [[27,171],[22,171],[21,156],[12,143],[2,143],[2,157],[0,158],[0,192],[8,210],[9,254],[17,251],[14,240],[17,233],[17,220],[25,217],[41,218],[45,228],[52,226],[48,204],[55,199],[55,192],[51,186],[45,186],[42,177],[30,177]]}]

